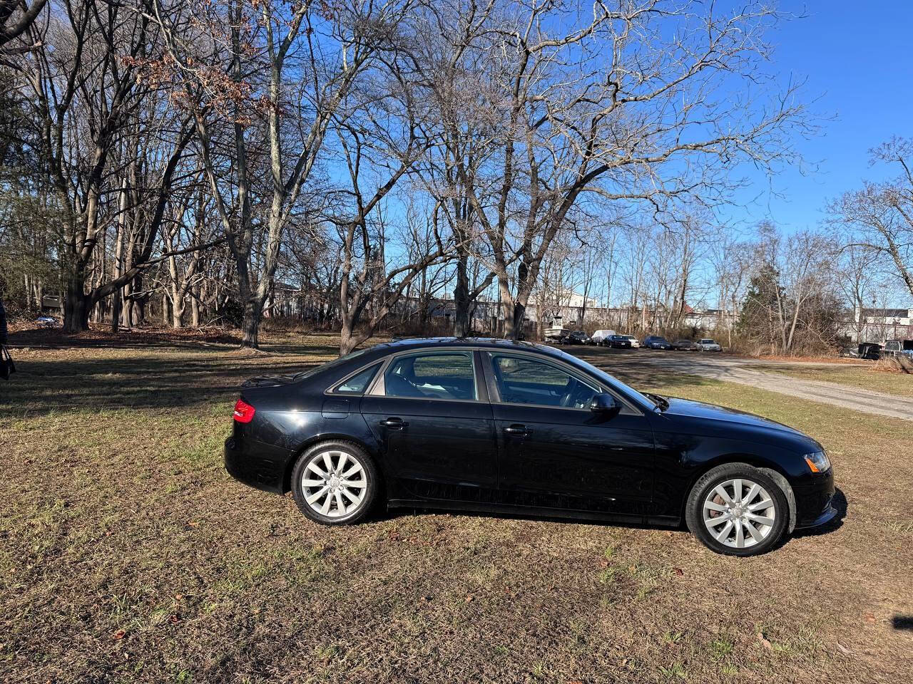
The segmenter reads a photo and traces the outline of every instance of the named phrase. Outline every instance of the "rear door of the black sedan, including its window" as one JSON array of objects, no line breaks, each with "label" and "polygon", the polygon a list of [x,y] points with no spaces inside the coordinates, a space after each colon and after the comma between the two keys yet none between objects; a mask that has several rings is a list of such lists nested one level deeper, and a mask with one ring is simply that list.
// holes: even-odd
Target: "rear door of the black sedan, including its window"
[{"label": "rear door of the black sedan, including its window", "polygon": [[475,351],[394,356],[361,410],[394,479],[391,498],[491,503],[497,444]]}]

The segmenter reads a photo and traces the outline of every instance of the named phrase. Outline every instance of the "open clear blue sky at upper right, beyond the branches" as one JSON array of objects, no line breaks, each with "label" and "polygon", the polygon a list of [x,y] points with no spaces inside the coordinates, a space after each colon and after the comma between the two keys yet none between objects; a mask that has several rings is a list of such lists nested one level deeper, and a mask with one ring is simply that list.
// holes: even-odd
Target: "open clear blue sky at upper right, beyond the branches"
[{"label": "open clear blue sky at upper right, beyond the branches", "polygon": [[[895,171],[870,167],[868,150],[894,135],[913,136],[913,3],[908,0],[781,2],[784,12],[806,14],[784,21],[769,37],[774,73],[807,78],[806,101],[824,117],[819,135],[797,145],[810,162],[803,175],[786,169],[769,179],[750,172],[749,188],[730,218],[757,223],[770,218],[787,230],[813,227],[826,202],[864,179]],[[782,197],[771,192],[779,192]]]}]

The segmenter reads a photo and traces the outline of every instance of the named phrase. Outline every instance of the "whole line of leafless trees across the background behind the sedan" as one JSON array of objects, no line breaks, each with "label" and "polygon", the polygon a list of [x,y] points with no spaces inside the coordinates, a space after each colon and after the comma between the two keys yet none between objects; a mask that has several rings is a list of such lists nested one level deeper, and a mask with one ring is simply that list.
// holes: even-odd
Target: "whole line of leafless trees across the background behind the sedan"
[{"label": "whole line of leafless trees across the background behind the sedan", "polygon": [[345,353],[404,298],[452,298],[464,335],[493,294],[517,337],[571,279],[644,327],[754,302],[737,333],[790,350],[846,302],[823,274],[858,267],[854,304],[888,271],[913,293],[913,182],[895,140],[876,153],[903,175],[834,202],[829,229],[720,223],[740,163],[776,171],[814,132],[800,86],[765,71],[779,20],[688,0],[0,0],[0,286],[27,310],[60,293],[68,332],[154,303],[257,347],[291,285]]}]

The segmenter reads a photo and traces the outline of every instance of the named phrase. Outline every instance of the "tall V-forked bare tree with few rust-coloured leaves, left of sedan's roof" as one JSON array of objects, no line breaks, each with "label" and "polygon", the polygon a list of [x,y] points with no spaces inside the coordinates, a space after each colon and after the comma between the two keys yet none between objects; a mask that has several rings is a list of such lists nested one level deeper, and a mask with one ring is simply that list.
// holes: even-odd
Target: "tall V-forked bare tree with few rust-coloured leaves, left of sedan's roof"
[{"label": "tall V-forked bare tree with few rust-coloured leaves, left of sedan's roof", "polygon": [[[344,118],[356,80],[395,43],[403,5],[226,0],[207,4],[203,17],[197,9],[160,0],[152,5],[168,57],[183,78],[206,177],[235,258],[244,306],[242,346],[257,347],[283,233],[301,188],[331,120]],[[227,128],[220,130],[223,120]],[[264,175],[266,181],[258,183]],[[255,196],[262,196],[262,209]],[[256,254],[261,230],[266,239]]]}]

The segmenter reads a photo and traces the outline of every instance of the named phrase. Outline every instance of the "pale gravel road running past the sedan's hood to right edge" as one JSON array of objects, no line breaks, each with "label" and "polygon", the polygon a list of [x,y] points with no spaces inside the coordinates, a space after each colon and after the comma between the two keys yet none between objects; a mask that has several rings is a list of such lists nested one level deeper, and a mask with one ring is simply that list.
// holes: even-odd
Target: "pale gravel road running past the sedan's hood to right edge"
[{"label": "pale gravel road running past the sedan's hood to right edge", "polygon": [[[581,355],[583,356],[583,355]],[[599,358],[587,354],[587,360],[601,365]],[[771,372],[766,368],[782,365],[788,367],[801,363],[804,366],[820,366],[808,362],[775,362],[754,358],[739,358],[701,352],[653,352],[640,350],[635,352],[615,353],[612,355],[613,366],[637,366],[641,368],[673,369],[702,378],[713,378],[740,385],[750,385],[771,392],[779,392],[800,399],[818,401],[844,409],[854,409],[876,416],[889,416],[904,420],[913,420],[913,399],[860,389],[848,385],[821,380],[805,380]],[[751,368],[763,365],[764,370]],[[608,369],[608,365],[604,368]]]}]

